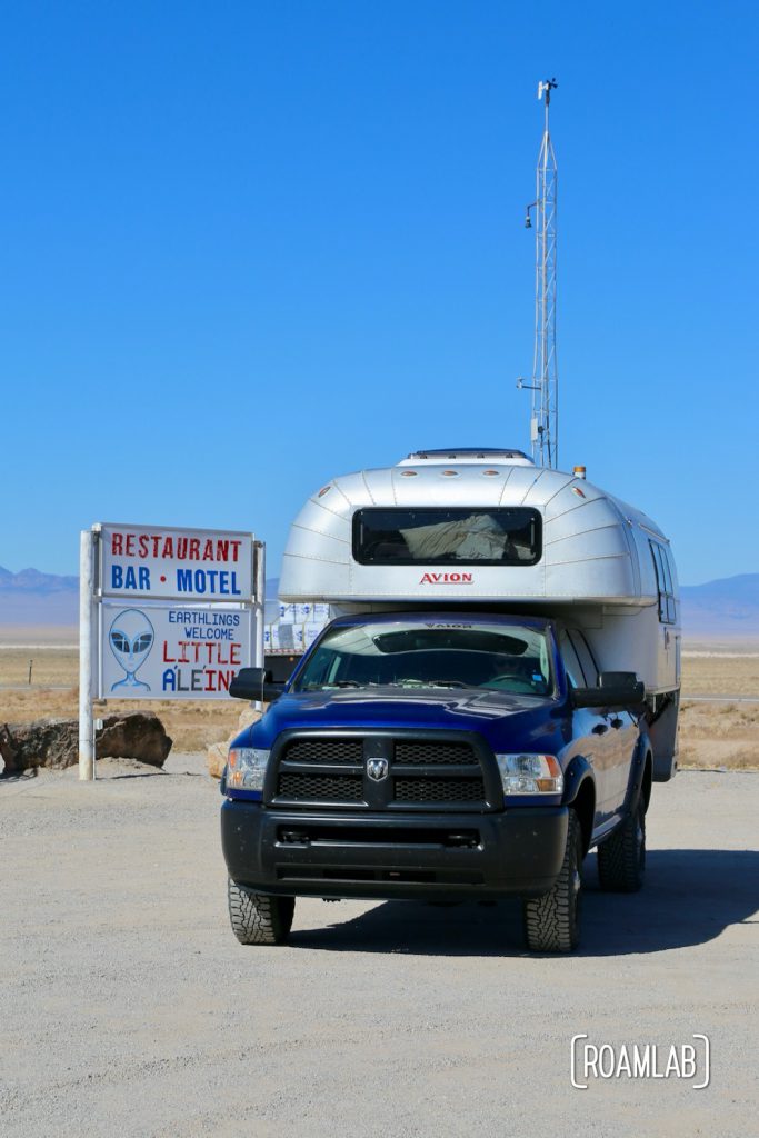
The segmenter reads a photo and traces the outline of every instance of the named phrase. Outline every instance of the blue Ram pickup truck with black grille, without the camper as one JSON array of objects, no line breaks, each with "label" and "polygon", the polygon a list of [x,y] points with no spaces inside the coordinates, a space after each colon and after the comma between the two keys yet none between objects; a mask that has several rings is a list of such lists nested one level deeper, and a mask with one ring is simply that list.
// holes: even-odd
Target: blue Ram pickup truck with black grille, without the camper
[{"label": "blue Ram pickup truck with black grille, without the camper", "polygon": [[641,888],[652,782],[644,686],[583,633],[506,612],[340,617],[232,743],[222,843],[232,930],[284,941],[296,897],[521,899],[527,947],[579,940],[583,860]]}]

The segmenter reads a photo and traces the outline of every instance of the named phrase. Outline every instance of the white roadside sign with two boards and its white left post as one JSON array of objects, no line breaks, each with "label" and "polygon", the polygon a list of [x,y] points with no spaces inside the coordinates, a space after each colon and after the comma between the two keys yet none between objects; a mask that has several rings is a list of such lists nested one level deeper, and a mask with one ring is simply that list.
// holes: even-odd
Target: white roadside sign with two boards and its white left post
[{"label": "white roadside sign with two boards and its white left post", "polygon": [[263,542],[250,533],[104,522],[82,534],[80,778],[94,778],[92,699],[225,699],[263,666]]}]

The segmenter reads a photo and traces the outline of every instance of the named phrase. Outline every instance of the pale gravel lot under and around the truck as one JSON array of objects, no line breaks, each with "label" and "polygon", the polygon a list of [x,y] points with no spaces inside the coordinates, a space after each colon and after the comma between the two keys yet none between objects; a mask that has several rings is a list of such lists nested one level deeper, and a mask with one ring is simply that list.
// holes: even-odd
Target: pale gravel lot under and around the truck
[{"label": "pale gravel lot under and around the truck", "polygon": [[[288,947],[242,948],[200,757],[99,767],[0,783],[3,1138],[754,1129],[759,775],[654,786],[643,892],[591,857],[583,948],[548,958],[515,904],[300,900]],[[572,1089],[579,1032],[706,1032],[711,1083]]]}]

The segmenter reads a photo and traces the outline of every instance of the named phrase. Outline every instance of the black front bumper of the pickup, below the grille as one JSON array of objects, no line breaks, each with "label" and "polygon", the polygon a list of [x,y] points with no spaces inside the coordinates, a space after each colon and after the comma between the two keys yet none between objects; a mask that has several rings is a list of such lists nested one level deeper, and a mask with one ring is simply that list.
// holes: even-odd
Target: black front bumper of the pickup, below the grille
[{"label": "black front bumper of the pickup, below the grille", "polygon": [[560,871],[567,807],[368,814],[226,799],[230,877],[262,893],[423,898],[544,893]]}]

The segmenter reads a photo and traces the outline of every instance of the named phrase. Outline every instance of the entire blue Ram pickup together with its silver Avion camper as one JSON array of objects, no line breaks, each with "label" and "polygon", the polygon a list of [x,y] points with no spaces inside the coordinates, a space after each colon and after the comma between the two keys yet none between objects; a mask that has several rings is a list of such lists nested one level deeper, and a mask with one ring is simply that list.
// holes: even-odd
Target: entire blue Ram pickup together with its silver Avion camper
[{"label": "entire blue Ram pickup together with its silver Avion camper", "polygon": [[519,451],[411,454],[332,479],[292,523],[284,601],[333,615],[232,743],[232,927],[286,939],[295,898],[518,896],[527,945],[579,939],[583,861],[643,883],[675,773],[679,602],[643,513]]}]

